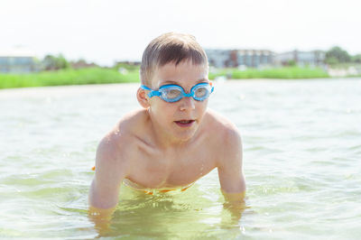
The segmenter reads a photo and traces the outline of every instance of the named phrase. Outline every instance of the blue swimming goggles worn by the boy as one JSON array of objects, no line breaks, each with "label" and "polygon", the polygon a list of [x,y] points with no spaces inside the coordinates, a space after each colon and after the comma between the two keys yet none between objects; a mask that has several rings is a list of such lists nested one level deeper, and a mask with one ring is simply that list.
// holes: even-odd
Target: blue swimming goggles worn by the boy
[{"label": "blue swimming goggles worn by the boy", "polygon": [[141,86],[144,90],[150,90],[148,97],[161,97],[168,103],[178,102],[183,97],[193,97],[194,100],[204,101],[213,92],[214,87],[208,82],[201,82],[190,89],[190,93],[186,93],[179,85],[163,85],[158,90],[153,90],[144,85]]}]

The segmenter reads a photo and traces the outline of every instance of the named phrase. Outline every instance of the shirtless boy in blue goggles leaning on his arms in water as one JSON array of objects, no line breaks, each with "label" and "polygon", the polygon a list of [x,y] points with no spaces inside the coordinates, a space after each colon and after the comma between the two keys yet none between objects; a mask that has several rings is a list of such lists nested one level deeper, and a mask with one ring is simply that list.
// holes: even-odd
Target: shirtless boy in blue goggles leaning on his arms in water
[{"label": "shirtless boy in blue goggles leaning on his arms in water", "polygon": [[125,115],[97,148],[90,208],[114,209],[120,185],[148,194],[185,190],[218,168],[225,196],[245,192],[236,126],[208,110],[208,59],[193,36],[165,33],[143,52],[143,109]]}]

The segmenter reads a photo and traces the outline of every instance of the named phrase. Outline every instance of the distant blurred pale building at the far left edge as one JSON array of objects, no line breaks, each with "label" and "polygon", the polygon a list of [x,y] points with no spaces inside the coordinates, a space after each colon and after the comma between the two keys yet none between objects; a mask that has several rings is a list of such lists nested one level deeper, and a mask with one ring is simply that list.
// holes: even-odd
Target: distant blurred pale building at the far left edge
[{"label": "distant blurred pale building at the far left edge", "polygon": [[36,70],[35,57],[31,51],[23,49],[0,51],[1,73],[26,73]]}]

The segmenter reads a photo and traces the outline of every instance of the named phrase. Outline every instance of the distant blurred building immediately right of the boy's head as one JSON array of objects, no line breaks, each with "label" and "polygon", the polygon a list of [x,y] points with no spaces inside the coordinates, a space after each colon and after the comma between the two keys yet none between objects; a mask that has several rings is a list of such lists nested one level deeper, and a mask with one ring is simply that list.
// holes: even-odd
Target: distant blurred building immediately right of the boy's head
[{"label": "distant blurred building immediately right of the boy's head", "polygon": [[206,50],[206,54],[216,68],[260,68],[274,62],[274,53],[268,50]]}]

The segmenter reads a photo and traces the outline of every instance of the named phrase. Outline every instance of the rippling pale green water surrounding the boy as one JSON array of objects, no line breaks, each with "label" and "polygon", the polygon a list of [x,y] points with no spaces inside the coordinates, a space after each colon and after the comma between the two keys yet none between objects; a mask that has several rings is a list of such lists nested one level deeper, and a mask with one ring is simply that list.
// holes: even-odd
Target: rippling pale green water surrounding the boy
[{"label": "rippling pale green water surrounding the boy", "polygon": [[227,208],[217,171],[182,193],[122,187],[106,233],[88,217],[91,167],[138,86],[1,90],[0,238],[358,238],[361,79],[215,85],[209,107],[243,136],[245,208]]}]

